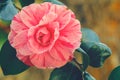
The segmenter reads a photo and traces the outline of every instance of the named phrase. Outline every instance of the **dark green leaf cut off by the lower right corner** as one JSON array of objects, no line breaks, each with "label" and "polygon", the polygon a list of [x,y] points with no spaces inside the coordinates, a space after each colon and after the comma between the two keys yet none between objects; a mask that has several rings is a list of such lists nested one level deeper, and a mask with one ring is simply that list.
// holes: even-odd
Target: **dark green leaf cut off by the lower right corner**
[{"label": "dark green leaf cut off by the lower right corner", "polygon": [[113,69],[109,75],[108,80],[120,80],[120,66]]}]

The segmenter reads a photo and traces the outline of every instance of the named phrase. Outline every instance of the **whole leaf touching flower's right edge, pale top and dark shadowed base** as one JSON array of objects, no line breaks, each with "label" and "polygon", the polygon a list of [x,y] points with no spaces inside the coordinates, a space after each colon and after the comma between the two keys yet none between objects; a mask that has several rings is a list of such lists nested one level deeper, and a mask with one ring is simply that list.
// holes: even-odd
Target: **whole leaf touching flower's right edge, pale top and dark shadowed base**
[{"label": "whole leaf touching flower's right edge, pale top and dark shadowed base", "polygon": [[80,47],[86,52],[92,45],[100,42],[98,35],[93,30],[89,28],[82,28],[81,31],[82,41]]}]

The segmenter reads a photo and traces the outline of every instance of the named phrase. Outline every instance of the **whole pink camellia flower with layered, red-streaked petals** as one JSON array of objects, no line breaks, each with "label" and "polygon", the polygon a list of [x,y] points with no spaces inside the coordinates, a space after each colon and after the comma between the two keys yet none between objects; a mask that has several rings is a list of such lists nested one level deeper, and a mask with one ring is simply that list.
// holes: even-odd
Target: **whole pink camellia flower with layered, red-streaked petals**
[{"label": "whole pink camellia flower with layered, red-streaked petals", "polygon": [[24,7],[12,20],[9,42],[23,63],[56,68],[80,46],[80,22],[66,6],[49,2]]}]

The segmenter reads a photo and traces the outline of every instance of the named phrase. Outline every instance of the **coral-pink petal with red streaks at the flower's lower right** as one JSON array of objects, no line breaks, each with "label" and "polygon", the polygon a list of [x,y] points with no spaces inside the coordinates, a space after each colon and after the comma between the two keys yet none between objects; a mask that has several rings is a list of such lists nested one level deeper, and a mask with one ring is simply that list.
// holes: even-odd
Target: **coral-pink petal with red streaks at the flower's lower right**
[{"label": "coral-pink petal with red streaks at the flower's lower right", "polygon": [[55,46],[51,49],[50,55],[59,61],[69,61],[73,57],[73,49],[71,45],[57,41]]}]

